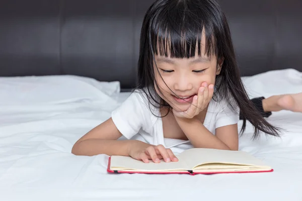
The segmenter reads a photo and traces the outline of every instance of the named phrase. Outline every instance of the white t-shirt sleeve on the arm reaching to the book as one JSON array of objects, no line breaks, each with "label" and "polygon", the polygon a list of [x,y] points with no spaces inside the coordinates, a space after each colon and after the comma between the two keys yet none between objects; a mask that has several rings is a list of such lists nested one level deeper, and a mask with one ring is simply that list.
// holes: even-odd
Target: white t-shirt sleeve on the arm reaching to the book
[{"label": "white t-shirt sleeve on the arm reaching to the book", "polygon": [[127,139],[136,135],[146,122],[147,103],[142,95],[139,92],[132,92],[125,102],[111,113],[116,128]]}]

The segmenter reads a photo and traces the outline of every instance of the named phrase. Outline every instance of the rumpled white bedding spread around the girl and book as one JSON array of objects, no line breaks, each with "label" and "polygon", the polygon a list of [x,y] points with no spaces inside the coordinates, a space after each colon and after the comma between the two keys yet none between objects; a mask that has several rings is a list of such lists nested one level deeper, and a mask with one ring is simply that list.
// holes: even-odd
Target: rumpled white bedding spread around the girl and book
[{"label": "rumpled white bedding spread around the girl and book", "polygon": [[[244,81],[251,97],[302,91],[302,73],[293,69]],[[0,200],[302,200],[297,113],[269,118],[285,129],[281,139],[252,141],[250,125],[240,138],[240,149],[271,165],[271,173],[113,175],[106,155],[72,155],[74,142],[129,94],[118,92],[116,82],[77,76],[0,78]]]}]

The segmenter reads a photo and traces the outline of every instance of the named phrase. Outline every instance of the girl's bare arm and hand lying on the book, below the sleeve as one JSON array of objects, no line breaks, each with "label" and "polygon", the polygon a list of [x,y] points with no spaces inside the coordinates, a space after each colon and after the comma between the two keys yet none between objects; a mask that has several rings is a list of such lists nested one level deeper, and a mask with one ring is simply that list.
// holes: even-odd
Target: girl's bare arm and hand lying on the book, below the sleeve
[{"label": "girl's bare arm and hand lying on the book, below the sleeve", "polygon": [[131,156],[145,163],[148,163],[149,159],[158,163],[162,158],[166,162],[178,161],[173,152],[163,145],[155,146],[138,140],[117,140],[121,136],[110,118],[80,138],[73,145],[71,153],[87,156],[97,154]]}]

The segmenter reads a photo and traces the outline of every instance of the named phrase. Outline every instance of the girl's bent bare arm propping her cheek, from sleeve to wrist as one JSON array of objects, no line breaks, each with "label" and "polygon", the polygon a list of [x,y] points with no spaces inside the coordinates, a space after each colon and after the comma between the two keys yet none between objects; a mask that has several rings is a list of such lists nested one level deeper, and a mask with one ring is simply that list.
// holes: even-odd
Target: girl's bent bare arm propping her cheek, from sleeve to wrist
[{"label": "girl's bent bare arm propping her cheek, from sleeve to wrist", "polygon": [[196,148],[238,150],[237,124],[219,127],[213,135],[197,118],[176,117],[176,121]]}]

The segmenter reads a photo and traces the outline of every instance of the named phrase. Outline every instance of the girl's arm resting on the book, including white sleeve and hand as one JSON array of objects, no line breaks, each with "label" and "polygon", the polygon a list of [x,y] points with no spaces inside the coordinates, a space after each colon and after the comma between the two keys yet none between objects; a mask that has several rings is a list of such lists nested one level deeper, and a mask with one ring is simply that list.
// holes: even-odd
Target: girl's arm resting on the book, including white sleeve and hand
[{"label": "girl's arm resting on the book, including white sleeve and hand", "polygon": [[[163,145],[150,145],[138,140],[129,140],[143,128],[149,108],[138,93],[132,93],[126,101],[115,111],[111,118],[80,138],[72,147],[75,155],[130,156],[148,163],[149,159],[159,162],[164,158],[166,162],[177,161],[170,149]],[[128,140],[117,140],[121,136]]]}]

